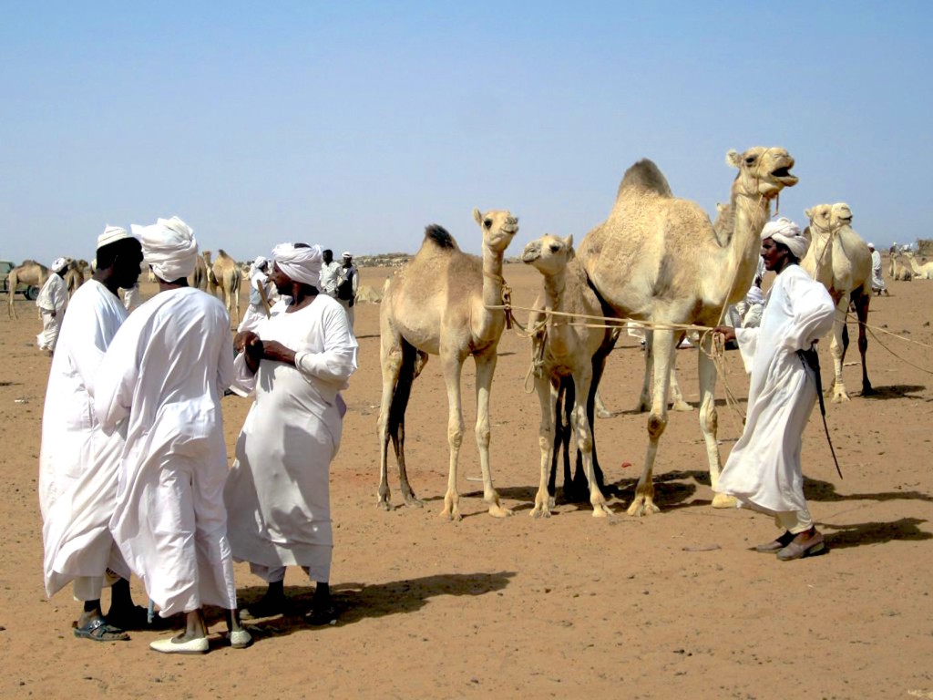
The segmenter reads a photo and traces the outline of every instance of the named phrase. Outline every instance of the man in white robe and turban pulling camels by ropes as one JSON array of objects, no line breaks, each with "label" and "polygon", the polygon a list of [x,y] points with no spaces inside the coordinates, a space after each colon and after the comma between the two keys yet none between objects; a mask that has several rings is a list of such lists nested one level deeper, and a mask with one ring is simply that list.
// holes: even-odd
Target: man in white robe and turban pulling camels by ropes
[{"label": "man in white robe and turban pulling camels by ropes", "polygon": [[829,333],[834,305],[826,287],[797,263],[809,240],[786,218],[765,224],[761,257],[777,279],[759,328],[717,329],[739,343],[751,373],[745,430],[722,470],[716,491],[770,513],[786,532],[759,545],[782,561],[822,552],[826,545],[803,497],[801,443],[816,401],[815,372],[801,351]]}]

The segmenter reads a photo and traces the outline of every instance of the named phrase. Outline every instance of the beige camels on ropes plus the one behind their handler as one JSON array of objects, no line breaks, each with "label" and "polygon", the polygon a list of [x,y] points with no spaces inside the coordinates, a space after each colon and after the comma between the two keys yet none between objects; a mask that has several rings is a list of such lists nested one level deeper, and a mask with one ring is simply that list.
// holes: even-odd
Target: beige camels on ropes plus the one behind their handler
[{"label": "beige camels on ropes plus the one behind their handler", "polygon": [[[745,298],[756,273],[760,233],[772,216],[773,200],[782,189],[798,182],[790,172],[794,159],[784,148],[753,147],[744,153],[733,150],[727,162],[738,172],[729,203],[719,206],[715,225],[698,204],[675,197],[660,169],[643,160],[626,171],[609,217],[583,237],[576,252],[572,236],[546,235],[524,248],[522,261],[542,274],[536,311],[528,322],[541,408],[540,483],[531,515],[550,515],[555,452],[562,441],[566,449],[570,435],[578,465],[582,464],[586,475],[593,516],[610,514],[595,462],[592,418],[596,385],[618,330],[606,328],[611,323],[581,322],[592,316],[631,319],[648,327],[645,385],[653,380],[653,391],[649,405],[644,398],[640,402],[648,408],[648,448],[628,513],[647,515],[659,510],[654,503],[652,469],[667,426],[675,347],[684,327],[715,327],[727,306]],[[406,504],[421,505],[406,472],[405,412],[412,382],[428,357],[437,355],[449,406],[450,469],[441,515],[460,519],[457,463],[464,435],[461,373],[466,358],[472,356],[476,363],[476,441],[483,499],[491,515],[509,514],[495,491],[490,469],[489,399],[496,347],[511,320],[503,298],[504,288],[508,290],[502,277],[503,254],[519,226],[508,211],[483,214],[475,209],[473,216],[482,233],[481,259],[462,252],[447,231],[429,226],[418,253],[383,290],[378,502],[385,510],[392,508],[387,477],[389,441],[397,460],[402,497]],[[835,402],[849,399],[842,382],[842,359],[848,344],[845,319],[851,303],[858,319],[862,394],[869,395],[865,324],[872,292],[870,250],[851,227],[848,205],[819,204],[808,209],[806,216],[812,245],[801,266],[829,289],[837,308],[830,343],[834,378],[828,393]],[[918,268],[915,260],[909,262],[917,276],[922,276],[924,268]],[[925,268],[933,277],[933,263]],[[704,333],[699,344],[700,429],[715,487],[721,460],[712,334]],[[562,400],[567,404],[563,410]],[[712,505],[726,508],[735,503],[731,497],[717,495]]]}]

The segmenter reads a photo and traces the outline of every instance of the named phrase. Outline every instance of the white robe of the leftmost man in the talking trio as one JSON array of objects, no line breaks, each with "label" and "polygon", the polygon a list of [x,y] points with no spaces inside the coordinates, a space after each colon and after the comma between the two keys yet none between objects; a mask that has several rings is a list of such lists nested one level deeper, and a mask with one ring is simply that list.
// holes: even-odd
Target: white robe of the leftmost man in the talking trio
[{"label": "white robe of the leftmost man in the talking trio", "polygon": [[49,596],[78,576],[103,576],[106,567],[130,577],[108,528],[123,441],[101,432],[92,399],[94,376],[126,315],[117,296],[89,281],[71,300],[52,357],[38,484]]}]

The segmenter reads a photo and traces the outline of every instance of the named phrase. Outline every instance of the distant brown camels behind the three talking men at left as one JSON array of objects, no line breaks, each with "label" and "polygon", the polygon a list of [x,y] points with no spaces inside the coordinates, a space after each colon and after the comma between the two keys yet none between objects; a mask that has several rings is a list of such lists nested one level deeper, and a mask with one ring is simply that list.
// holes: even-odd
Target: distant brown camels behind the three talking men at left
[{"label": "distant brown camels behind the three talking men at left", "polygon": [[[90,279],[91,273],[93,273],[93,264],[87,260],[72,260],[68,263],[68,269],[64,273],[64,281],[68,287],[69,296],[75,293],[77,287]],[[17,287],[28,285],[41,288],[48,278],[49,268],[40,265],[35,260],[24,260],[21,265],[13,268],[7,278],[9,290],[7,294],[7,315],[10,318],[15,315],[18,316],[16,307],[13,304]],[[236,320],[239,323],[240,283],[242,279],[243,273],[239,264],[221,248],[217,251],[217,257],[213,261],[209,250],[205,250],[198,256],[194,272],[188,276],[188,285],[210,291],[211,294],[220,292],[230,318],[233,317],[235,308]],[[150,279],[150,281],[155,281],[155,278]]]}]

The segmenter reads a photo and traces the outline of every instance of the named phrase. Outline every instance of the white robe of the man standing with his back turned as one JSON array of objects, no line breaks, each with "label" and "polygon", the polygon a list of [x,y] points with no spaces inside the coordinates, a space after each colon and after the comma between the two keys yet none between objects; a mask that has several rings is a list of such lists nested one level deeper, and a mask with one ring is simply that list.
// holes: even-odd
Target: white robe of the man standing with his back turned
[{"label": "white robe of the man standing with his back turned", "polygon": [[220,411],[232,373],[223,303],[183,287],[130,315],[97,374],[101,427],[126,421],[110,529],[162,617],[236,607]]}]

